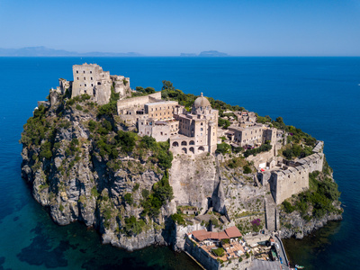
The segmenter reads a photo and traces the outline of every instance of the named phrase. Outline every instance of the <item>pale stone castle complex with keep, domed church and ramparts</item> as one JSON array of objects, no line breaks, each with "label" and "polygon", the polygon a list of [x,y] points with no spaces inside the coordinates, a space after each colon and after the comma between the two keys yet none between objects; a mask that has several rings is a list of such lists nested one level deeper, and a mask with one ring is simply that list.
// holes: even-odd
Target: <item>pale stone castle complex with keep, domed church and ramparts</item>
[{"label": "pale stone castle complex with keep, domed church and ramparts", "polygon": [[50,104],[56,103],[55,93],[65,94],[71,89],[71,97],[89,94],[99,104],[108,103],[112,89],[120,94],[117,102],[119,118],[127,126],[138,129],[139,136],[150,136],[157,141],[170,142],[175,155],[214,153],[220,138],[233,148],[254,148],[270,143],[272,150],[247,157],[258,169],[257,179],[271,191],[276,204],[284,202],[295,193],[309,188],[309,173],[322,170],[324,154],[322,142],[313,149],[313,155],[296,162],[278,157],[277,151],[286,141],[284,130],[277,130],[257,123],[255,112],[238,111],[234,117],[223,116],[231,124],[228,129],[218,128],[219,112],[211,108],[209,100],[201,94],[190,112],[176,101],[161,98],[161,92],[138,97],[131,94],[130,78],[111,76],[96,64],[73,66],[74,81],[59,79],[57,89],[50,91]]}]

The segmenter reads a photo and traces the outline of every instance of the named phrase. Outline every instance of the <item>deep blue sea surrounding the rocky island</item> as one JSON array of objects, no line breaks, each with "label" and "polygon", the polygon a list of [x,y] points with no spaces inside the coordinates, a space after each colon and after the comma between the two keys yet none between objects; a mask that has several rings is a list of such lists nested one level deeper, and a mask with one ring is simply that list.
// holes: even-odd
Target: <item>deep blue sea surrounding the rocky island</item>
[{"label": "deep blue sea surrounding the rocky island", "polygon": [[96,63],[130,86],[171,81],[301,128],[325,141],[344,208],[342,221],[284,240],[305,269],[360,269],[360,58],[0,58],[0,269],[200,269],[169,247],[135,252],[102,245],[94,229],[56,225],[21,177],[23,124],[72,65]]}]

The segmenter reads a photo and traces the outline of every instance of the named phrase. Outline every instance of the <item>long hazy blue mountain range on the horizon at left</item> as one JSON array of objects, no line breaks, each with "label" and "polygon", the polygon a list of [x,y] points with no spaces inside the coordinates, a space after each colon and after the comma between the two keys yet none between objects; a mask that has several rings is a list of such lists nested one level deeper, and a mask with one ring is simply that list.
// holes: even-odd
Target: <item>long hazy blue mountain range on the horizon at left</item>
[{"label": "long hazy blue mountain range on the horizon at left", "polygon": [[1,49],[0,57],[139,57],[142,56],[137,52],[76,52],[65,49],[49,49],[43,46],[26,47],[21,49]]}]

